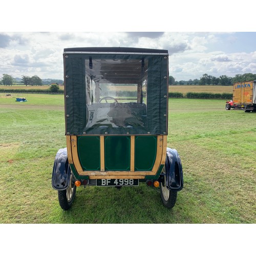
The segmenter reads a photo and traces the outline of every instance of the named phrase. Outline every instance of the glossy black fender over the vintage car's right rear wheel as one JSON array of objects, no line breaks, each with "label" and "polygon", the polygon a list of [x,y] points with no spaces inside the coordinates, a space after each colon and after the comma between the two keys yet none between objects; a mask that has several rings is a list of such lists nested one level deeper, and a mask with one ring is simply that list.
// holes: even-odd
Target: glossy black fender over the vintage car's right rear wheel
[{"label": "glossy black fender over the vintage car's right rear wheel", "polygon": [[165,159],[166,187],[172,191],[183,188],[183,173],[180,156],[174,148],[167,147]]}]

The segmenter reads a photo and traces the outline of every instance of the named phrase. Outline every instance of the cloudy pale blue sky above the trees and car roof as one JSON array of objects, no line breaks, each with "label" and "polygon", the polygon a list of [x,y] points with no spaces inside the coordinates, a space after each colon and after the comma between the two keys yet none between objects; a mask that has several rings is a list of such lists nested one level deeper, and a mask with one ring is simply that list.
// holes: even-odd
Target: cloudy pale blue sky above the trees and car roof
[{"label": "cloudy pale blue sky above the trees and car roof", "polygon": [[167,49],[176,80],[256,73],[256,32],[0,32],[0,75],[63,79],[63,48]]}]

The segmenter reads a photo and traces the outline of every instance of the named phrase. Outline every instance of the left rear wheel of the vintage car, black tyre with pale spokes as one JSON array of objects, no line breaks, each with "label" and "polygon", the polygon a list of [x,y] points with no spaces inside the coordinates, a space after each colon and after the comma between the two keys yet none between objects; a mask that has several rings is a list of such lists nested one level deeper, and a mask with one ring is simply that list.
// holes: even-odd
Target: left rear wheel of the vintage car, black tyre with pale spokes
[{"label": "left rear wheel of the vintage car, black tyre with pale spokes", "polygon": [[74,175],[71,173],[69,187],[65,190],[58,191],[59,205],[63,210],[68,210],[72,206],[76,196],[76,186]]}]

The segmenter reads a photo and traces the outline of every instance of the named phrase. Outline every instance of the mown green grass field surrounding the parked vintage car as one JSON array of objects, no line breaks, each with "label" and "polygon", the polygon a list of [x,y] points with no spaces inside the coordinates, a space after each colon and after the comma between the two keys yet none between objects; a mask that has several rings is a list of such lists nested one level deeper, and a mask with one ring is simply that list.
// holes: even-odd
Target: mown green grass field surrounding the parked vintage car
[{"label": "mown green grass field surrounding the parked vintage car", "polygon": [[78,187],[69,211],[51,186],[66,147],[63,95],[0,98],[0,223],[255,223],[256,113],[225,100],[170,99],[168,146],[178,150],[184,188],[175,207],[159,189]]}]

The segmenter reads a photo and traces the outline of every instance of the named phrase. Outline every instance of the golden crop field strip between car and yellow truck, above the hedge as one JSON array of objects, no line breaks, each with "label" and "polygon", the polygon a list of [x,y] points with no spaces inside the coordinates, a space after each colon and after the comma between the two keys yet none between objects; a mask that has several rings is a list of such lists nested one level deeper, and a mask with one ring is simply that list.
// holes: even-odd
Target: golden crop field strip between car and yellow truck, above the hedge
[{"label": "golden crop field strip between car and yellow truck, above the hedge", "polygon": [[194,93],[233,93],[233,86],[169,86],[169,92]]}]

